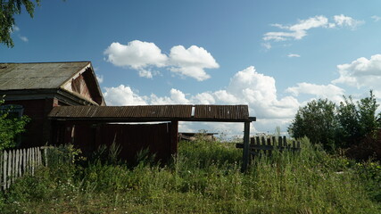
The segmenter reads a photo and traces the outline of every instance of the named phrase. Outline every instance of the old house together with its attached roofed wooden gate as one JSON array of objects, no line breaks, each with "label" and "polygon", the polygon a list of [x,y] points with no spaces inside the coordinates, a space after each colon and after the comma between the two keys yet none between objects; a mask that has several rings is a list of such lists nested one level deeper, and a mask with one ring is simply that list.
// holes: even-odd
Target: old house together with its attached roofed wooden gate
[{"label": "old house together with its attached roofed wooden gate", "polygon": [[0,63],[0,95],[31,119],[21,147],[70,143],[88,155],[116,143],[127,161],[143,149],[170,159],[178,121],[244,123],[247,147],[255,120],[247,105],[105,106],[91,62]]}]

